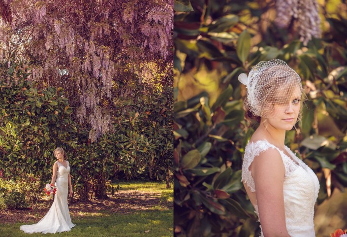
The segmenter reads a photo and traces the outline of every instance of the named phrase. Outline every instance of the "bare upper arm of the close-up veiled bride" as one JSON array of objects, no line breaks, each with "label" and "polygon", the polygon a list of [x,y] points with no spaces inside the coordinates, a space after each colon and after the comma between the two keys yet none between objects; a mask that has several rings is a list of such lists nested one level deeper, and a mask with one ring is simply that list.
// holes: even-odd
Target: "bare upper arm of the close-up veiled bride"
[{"label": "bare upper arm of the close-up veiled bride", "polygon": [[265,237],[290,237],[284,214],[284,164],[280,153],[268,149],[252,162],[256,200]]}]

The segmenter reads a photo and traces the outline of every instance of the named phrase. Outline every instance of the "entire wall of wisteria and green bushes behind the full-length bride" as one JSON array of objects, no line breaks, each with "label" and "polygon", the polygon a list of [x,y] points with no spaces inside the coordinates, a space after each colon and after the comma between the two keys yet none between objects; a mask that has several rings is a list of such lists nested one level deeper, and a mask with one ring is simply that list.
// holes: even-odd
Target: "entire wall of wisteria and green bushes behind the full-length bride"
[{"label": "entire wall of wisteria and green bushes behind the full-length bride", "polygon": [[[2,181],[30,174],[40,185],[50,181],[60,146],[75,200],[107,198],[116,191],[111,179],[170,186],[172,7],[172,0],[0,0]],[[0,187],[0,199],[10,192]]]}]

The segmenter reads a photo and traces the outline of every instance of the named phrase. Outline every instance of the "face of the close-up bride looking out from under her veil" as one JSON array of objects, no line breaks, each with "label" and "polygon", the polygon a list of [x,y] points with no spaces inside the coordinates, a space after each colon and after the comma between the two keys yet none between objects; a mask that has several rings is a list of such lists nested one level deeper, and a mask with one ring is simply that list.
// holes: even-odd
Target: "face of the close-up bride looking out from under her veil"
[{"label": "face of the close-up bride looking out from under her veil", "polygon": [[[283,97],[284,92],[279,91]],[[297,122],[301,108],[301,90],[295,88],[290,95],[283,97],[285,99],[275,101],[271,107],[272,116],[268,116],[267,122],[276,129],[289,131]]]}]

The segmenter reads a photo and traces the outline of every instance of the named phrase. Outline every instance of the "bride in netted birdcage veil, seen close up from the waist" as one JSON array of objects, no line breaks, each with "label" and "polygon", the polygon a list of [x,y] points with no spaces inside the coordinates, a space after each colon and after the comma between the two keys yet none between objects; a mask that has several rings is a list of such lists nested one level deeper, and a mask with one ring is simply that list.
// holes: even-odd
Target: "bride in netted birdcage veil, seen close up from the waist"
[{"label": "bride in netted birdcage veil, seen close up from the waist", "polygon": [[317,176],[284,145],[300,120],[300,76],[282,60],[260,62],[247,77],[246,117],[259,127],[245,148],[242,181],[260,222],[261,237],[315,237]]}]

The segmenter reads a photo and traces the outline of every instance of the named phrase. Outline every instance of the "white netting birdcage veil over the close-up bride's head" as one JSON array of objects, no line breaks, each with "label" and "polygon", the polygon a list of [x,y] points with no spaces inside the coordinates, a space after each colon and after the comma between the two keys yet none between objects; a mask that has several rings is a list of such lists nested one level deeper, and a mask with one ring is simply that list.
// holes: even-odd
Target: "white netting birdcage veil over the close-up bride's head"
[{"label": "white netting birdcage veil over the close-up bride's head", "polygon": [[295,70],[280,59],[261,61],[239,81],[247,86],[246,107],[254,116],[276,117],[300,105],[301,78]]}]

